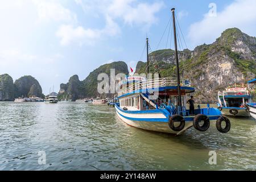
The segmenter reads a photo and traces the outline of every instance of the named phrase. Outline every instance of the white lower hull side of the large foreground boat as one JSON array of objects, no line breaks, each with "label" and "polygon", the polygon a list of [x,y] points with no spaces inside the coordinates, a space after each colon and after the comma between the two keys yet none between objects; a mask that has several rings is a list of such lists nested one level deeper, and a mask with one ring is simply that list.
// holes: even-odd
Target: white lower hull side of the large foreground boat
[{"label": "white lower hull side of the large foreground boat", "polygon": [[[182,131],[173,131],[170,129],[168,122],[158,121],[158,117],[166,118],[164,116],[164,114],[161,114],[161,113],[159,113],[159,114],[127,114],[127,113],[123,113],[120,110],[117,110],[117,115],[120,119],[122,119],[123,122],[125,122],[129,126],[137,127],[139,129],[143,129],[143,130],[158,131],[158,132],[162,132],[162,133],[170,133],[170,134],[175,134],[175,135],[180,135],[180,134],[184,133],[185,130],[187,130],[193,126],[193,122],[189,121],[189,122],[186,122],[185,127]],[[124,115],[125,117],[123,117],[122,115]],[[154,122],[152,122],[152,121],[134,121],[132,119],[127,119],[126,117],[129,117],[129,118],[154,118],[155,121]]]}]

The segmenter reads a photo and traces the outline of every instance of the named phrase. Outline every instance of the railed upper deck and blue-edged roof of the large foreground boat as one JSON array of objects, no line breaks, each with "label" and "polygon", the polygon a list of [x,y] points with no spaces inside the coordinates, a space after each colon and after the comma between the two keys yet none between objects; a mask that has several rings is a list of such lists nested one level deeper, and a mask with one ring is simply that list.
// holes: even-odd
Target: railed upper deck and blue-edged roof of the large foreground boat
[{"label": "railed upper deck and blue-edged roof of the large foreground boat", "polygon": [[[129,84],[128,88],[122,89],[118,93],[118,98],[126,97],[131,94],[159,92],[159,95],[177,96],[177,78],[155,78]],[[181,95],[195,92],[195,88],[190,85],[181,84]]]}]

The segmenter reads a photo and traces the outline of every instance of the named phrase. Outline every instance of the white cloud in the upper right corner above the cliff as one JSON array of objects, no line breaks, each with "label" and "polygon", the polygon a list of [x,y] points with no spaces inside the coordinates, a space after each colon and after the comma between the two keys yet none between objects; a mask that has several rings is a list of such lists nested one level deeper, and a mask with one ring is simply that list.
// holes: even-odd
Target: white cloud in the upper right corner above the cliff
[{"label": "white cloud in the upper right corner above the cliff", "polygon": [[226,28],[237,27],[253,35],[256,31],[255,7],[254,0],[236,0],[223,11],[218,12],[217,16],[205,14],[203,20],[193,23],[189,28],[188,37],[191,46],[214,42]]}]

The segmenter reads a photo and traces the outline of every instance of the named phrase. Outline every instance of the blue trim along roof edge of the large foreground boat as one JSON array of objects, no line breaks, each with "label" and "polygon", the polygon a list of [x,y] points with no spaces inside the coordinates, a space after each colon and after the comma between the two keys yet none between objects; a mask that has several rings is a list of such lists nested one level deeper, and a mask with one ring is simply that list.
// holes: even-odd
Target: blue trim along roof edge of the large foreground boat
[{"label": "blue trim along roof edge of the large foreground boat", "polygon": [[[173,90],[177,90],[177,86],[164,86],[164,87],[160,87],[160,88],[151,88],[151,89],[139,89],[139,90],[134,90],[133,92],[124,94],[122,96],[119,96],[118,98],[122,98],[122,97],[126,97],[132,94],[137,94],[137,93],[147,93],[147,92],[154,92],[154,90],[158,90],[158,92],[162,92],[164,90],[168,90],[168,89],[173,89]],[[181,86],[181,90],[191,90],[188,93],[192,93],[195,92],[195,88],[192,87],[188,87],[188,86]]]}]

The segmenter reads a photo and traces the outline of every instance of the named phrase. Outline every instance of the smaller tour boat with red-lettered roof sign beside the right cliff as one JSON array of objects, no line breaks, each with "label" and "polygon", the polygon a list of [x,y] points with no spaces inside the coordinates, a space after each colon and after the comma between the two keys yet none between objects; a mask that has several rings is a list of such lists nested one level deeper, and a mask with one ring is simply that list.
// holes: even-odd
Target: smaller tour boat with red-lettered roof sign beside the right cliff
[{"label": "smaller tour boat with red-lettered roof sign beside the right cliff", "polygon": [[251,102],[247,88],[239,85],[218,92],[218,109],[224,115],[250,117],[246,103]]}]

